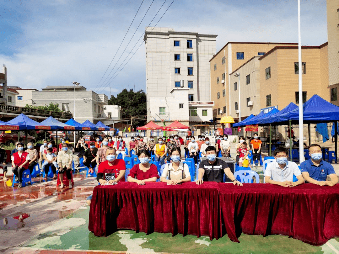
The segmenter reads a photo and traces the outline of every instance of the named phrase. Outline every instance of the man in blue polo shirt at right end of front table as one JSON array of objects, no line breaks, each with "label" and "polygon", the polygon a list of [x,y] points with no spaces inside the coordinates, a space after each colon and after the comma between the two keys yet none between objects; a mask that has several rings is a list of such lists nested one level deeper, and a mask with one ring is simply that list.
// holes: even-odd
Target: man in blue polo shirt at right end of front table
[{"label": "man in blue polo shirt at right end of front table", "polygon": [[[310,154],[311,159],[300,164],[301,174],[304,179],[308,183],[320,186],[334,186],[338,183],[338,176],[336,175],[333,166],[321,159],[321,147],[317,144],[312,144],[308,147],[308,153]],[[327,175],[330,176],[331,181],[326,181]]]}]

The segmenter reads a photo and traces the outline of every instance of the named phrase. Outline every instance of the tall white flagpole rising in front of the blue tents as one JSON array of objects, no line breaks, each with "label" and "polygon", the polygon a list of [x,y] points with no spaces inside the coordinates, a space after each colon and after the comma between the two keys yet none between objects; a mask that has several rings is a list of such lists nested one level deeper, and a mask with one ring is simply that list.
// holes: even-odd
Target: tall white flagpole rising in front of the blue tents
[{"label": "tall white flagpole rising in front of the blue tents", "polygon": [[[299,58],[299,158],[300,163],[305,161],[304,157],[304,121],[302,111],[302,63],[301,63],[301,28],[300,28],[300,0],[298,0],[298,58]],[[292,137],[290,137],[292,138]]]}]

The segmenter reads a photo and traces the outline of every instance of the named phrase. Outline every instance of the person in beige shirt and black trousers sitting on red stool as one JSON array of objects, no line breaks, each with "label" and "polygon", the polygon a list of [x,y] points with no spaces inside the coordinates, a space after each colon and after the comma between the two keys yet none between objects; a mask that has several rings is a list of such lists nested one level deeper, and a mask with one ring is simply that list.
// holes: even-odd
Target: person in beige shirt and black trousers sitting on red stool
[{"label": "person in beige shirt and black trousers sitting on red stool", "polygon": [[60,189],[64,187],[63,185],[63,173],[66,172],[68,179],[68,188],[72,189],[72,163],[73,163],[73,152],[68,149],[68,145],[66,143],[62,144],[62,151],[58,153],[57,163],[59,165],[59,178],[60,178]]}]

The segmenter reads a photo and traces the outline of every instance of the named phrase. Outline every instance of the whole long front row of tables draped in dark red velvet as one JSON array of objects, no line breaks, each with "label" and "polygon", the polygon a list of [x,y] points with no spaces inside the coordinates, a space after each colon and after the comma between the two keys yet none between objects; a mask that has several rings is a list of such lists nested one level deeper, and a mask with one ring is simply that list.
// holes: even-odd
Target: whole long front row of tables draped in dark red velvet
[{"label": "whole long front row of tables draped in dark red velvet", "polygon": [[88,229],[96,236],[131,229],[212,240],[221,237],[223,224],[235,242],[241,233],[280,234],[320,246],[339,237],[338,218],[339,185],[120,182],[94,188]]}]

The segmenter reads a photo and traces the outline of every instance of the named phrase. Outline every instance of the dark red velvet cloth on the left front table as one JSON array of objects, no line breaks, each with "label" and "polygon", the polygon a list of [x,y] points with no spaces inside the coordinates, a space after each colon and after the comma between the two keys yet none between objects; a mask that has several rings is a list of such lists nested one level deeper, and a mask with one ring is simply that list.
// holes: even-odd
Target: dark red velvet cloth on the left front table
[{"label": "dark red velvet cloth on the left front table", "polygon": [[218,184],[195,182],[120,182],[96,186],[89,211],[88,229],[107,236],[118,229],[136,232],[178,233],[218,239],[221,232]]}]

